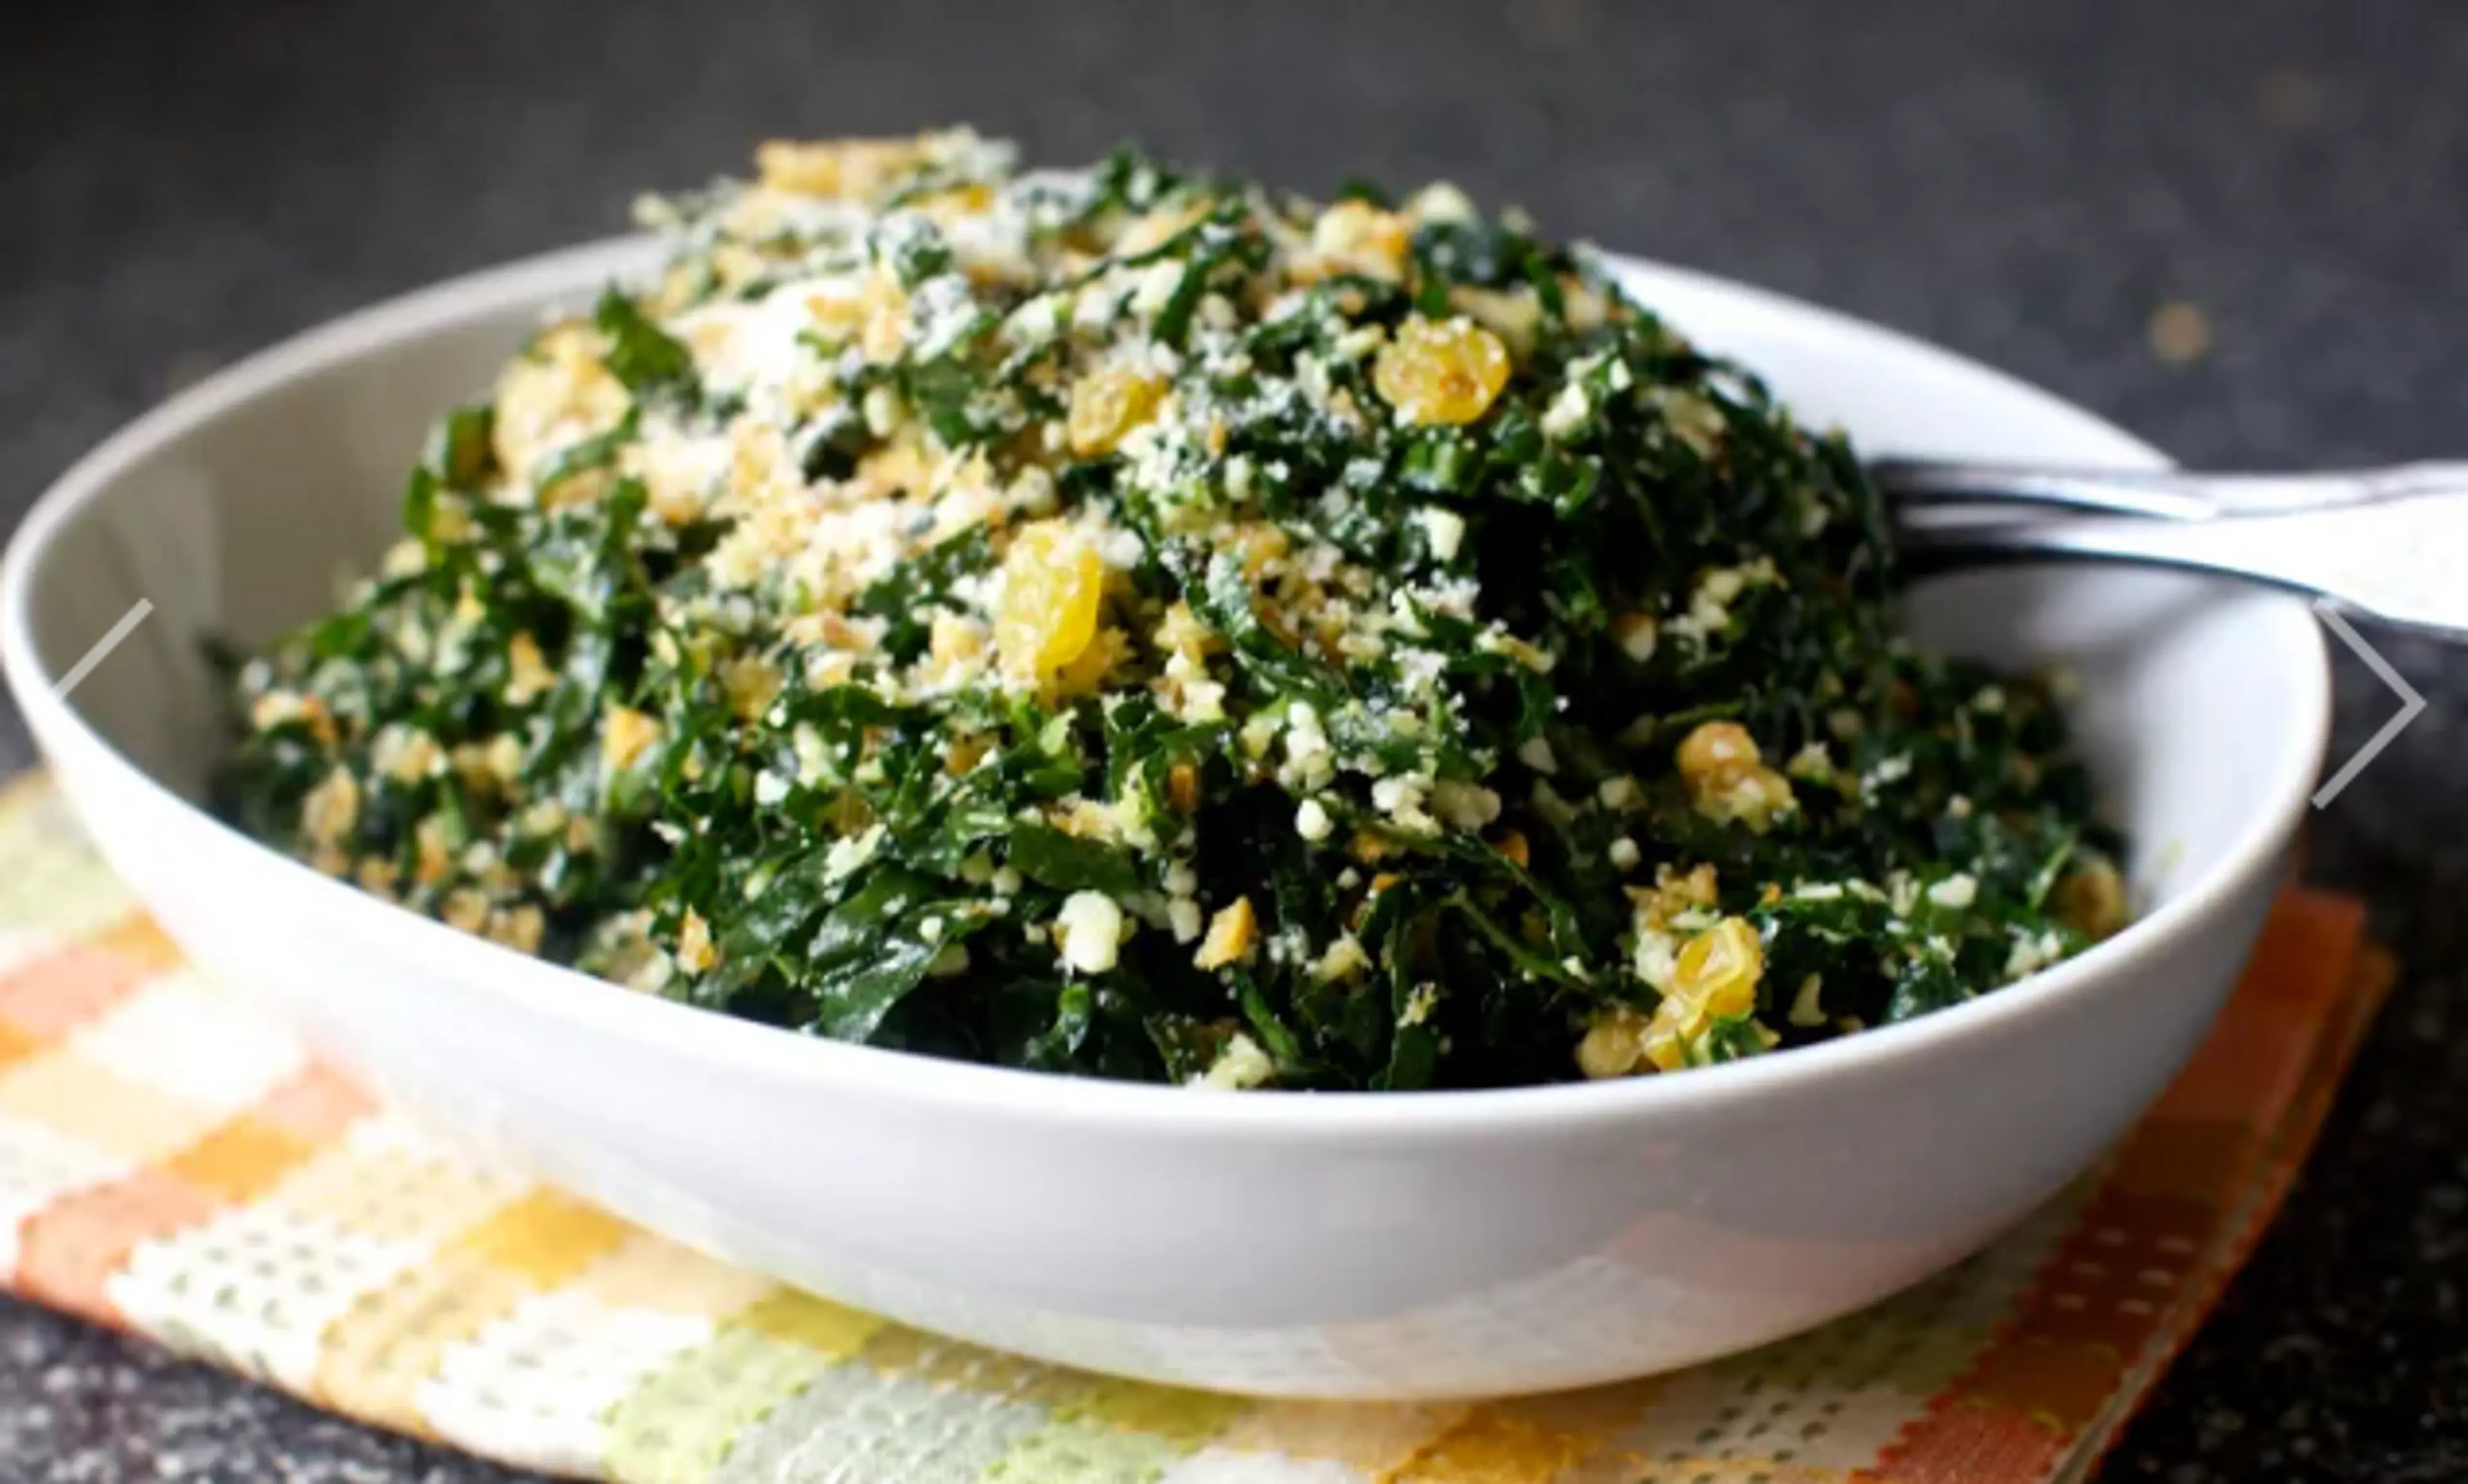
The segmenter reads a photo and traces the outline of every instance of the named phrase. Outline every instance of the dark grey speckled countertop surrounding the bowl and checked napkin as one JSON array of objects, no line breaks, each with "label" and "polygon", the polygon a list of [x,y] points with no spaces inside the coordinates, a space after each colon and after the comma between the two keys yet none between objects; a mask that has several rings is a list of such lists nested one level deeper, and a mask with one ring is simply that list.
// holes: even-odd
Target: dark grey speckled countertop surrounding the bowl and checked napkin
[{"label": "dark grey speckled countertop surrounding the bowl and checked napkin", "polygon": [[[622,224],[768,133],[975,121],[1565,234],[1930,335],[2189,461],[2468,454],[2456,0],[0,7],[0,530],[175,382]],[[2209,353],[2150,320],[2197,306]],[[2468,579],[2468,577],[2463,577]],[[2382,638],[2382,636],[2377,636]],[[2468,663],[2320,818],[2409,966],[2110,1477],[2468,1477]],[[2342,658],[2340,747],[2394,700]],[[25,740],[0,705],[0,764]],[[506,1479],[0,1302],[0,1477]]]}]

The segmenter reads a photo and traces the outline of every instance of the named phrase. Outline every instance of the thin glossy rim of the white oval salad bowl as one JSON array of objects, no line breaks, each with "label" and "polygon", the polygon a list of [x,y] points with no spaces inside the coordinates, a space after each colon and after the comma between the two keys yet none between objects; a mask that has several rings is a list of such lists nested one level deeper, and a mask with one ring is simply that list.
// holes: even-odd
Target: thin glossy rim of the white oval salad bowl
[{"label": "thin glossy rim of the white oval salad bowl", "polygon": [[[1641,274],[1688,293],[1715,296],[1735,313],[1777,325],[1797,323],[1824,338],[1863,340],[1893,350],[1910,365],[1930,365],[1937,372],[1989,385],[2024,404],[2036,402],[2044,412],[2073,419],[2085,434],[2100,434],[2120,463],[2167,463],[2157,449],[2105,419],[1913,335],[1713,274],[1624,254],[1607,254],[1607,259],[1621,274]],[[760,1070],[787,1082],[827,1080],[842,1092],[884,1095],[943,1109],[1000,1112],[1079,1127],[1120,1127],[1123,1119],[1133,1119],[1153,1129],[1170,1127],[1241,1139],[1313,1139],[1340,1131],[1392,1139],[1513,1136],[1636,1117],[1703,1114],[1747,1099],[1767,1102],[1834,1077],[1893,1075],[1952,1043],[2024,1033],[2034,1021],[2053,1013],[2063,1001],[2088,993],[2132,959],[2199,937],[2238,887],[2256,873],[2275,868],[2285,838],[2313,796],[2330,737],[2327,646],[2303,599],[2246,594],[2241,606],[2251,611],[2248,621],[2263,626],[2271,646],[2283,651],[2298,685],[2293,725],[2271,764],[2271,789],[2256,799],[2256,809],[2221,860],[2182,895],[2063,964],[1918,1021],[1878,1025],[1858,1035],[1797,1048],[1789,1055],[1693,1067],[1683,1077],[1422,1092],[1251,1090],[1239,1097],[1219,1097],[1180,1085],[1108,1082],[839,1043],[659,996],[617,991],[575,969],[459,934],[380,902],[242,836],[141,769],[54,693],[54,678],[35,651],[35,577],[77,515],[163,444],[294,382],[385,355],[469,318],[582,293],[649,264],[656,264],[656,242],[627,234],[516,259],[385,298],[217,370],[128,422],[69,466],[32,503],[7,542],[7,552],[0,555],[0,671],[5,671],[47,762],[57,764],[54,754],[59,752],[79,752],[81,759],[99,764],[94,777],[106,786],[133,789],[148,804],[175,809],[207,826],[217,846],[249,850],[267,865],[296,873],[294,885],[308,892],[301,897],[304,905],[336,912],[338,924],[350,922],[383,952],[400,952],[434,971],[479,981],[494,993],[513,996],[531,1013],[570,1023],[580,1035],[639,1043],[656,1055],[740,1065],[748,1072]]]}]

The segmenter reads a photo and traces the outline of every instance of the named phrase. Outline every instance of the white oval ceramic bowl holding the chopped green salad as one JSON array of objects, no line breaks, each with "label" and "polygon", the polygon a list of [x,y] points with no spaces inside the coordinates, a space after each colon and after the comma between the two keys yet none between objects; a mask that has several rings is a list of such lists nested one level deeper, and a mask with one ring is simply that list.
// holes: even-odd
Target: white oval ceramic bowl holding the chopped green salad
[{"label": "white oval ceramic bowl holding the chopped green salad", "polygon": [[[422,431],[642,242],[459,279],[247,360],[72,468],[0,572],[0,656],[59,784],[202,964],[442,1127],[721,1257],[1096,1371],[1283,1395],[1639,1376],[1972,1252],[2152,1099],[2253,944],[2327,722],[2305,606],[2189,577],[1999,572],[1923,636],[2085,680],[2147,915],[1910,1025],[1614,1085],[1207,1095],[805,1040],[387,907],[193,799],[200,636],[262,641],[383,550]],[[1945,353],[1634,264],[1636,293],[1871,454],[2152,463]],[[69,700],[138,599],[153,616]]]}]

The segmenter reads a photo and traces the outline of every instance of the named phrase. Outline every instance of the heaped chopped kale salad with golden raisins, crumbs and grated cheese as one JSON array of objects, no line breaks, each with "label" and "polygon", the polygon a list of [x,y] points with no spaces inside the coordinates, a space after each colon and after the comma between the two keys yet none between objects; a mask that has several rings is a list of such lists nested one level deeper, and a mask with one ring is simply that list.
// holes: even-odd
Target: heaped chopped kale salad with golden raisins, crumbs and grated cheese
[{"label": "heaped chopped kale salad with golden raisins, crumbs and grated cheese", "polygon": [[1209,1087],[1673,1072],[2125,922],[2056,680],[1898,638],[1844,439],[1515,212],[948,131],[639,214],[659,279],[237,661],[249,833],[639,993]]}]

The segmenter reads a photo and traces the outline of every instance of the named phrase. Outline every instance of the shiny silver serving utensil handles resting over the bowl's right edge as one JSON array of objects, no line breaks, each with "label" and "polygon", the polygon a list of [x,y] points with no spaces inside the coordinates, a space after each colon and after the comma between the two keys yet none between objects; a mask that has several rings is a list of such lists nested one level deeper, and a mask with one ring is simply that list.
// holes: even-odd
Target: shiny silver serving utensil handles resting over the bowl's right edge
[{"label": "shiny silver serving utensil handles resting over the bowl's right edge", "polygon": [[2155,562],[2248,577],[2468,641],[2468,463],[2345,473],[1881,461],[1905,560]]}]

